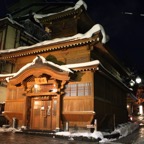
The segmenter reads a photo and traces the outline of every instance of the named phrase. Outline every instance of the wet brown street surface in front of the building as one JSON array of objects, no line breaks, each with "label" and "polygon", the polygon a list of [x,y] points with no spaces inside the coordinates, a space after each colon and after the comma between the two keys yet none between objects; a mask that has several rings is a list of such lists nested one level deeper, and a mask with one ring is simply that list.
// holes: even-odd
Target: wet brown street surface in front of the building
[{"label": "wet brown street surface in front of the building", "polygon": [[[144,127],[141,127],[127,137],[103,144],[142,144],[144,143],[144,137],[142,137],[143,134]],[[0,144],[96,144],[96,142],[74,141],[38,135],[16,134],[11,132],[0,132],[0,137]]]}]

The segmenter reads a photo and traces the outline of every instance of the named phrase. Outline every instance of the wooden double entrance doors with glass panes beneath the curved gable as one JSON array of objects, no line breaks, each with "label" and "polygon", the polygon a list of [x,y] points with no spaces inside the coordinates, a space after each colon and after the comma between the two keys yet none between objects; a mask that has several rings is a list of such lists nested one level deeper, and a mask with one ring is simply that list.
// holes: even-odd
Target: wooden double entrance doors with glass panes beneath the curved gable
[{"label": "wooden double entrance doors with glass panes beneath the curved gable", "polygon": [[32,98],[31,101],[31,129],[54,130],[56,129],[55,98]]}]

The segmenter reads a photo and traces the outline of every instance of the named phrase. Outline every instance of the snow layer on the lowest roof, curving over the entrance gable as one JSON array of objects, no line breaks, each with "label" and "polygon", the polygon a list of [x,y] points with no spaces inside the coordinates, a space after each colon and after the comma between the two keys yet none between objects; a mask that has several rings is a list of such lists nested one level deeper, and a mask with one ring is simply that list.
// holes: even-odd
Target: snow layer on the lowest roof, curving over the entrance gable
[{"label": "snow layer on the lowest roof, curving over the entrance gable", "polygon": [[54,66],[58,69],[60,69],[61,71],[66,71],[68,73],[73,73],[73,71],[71,69],[74,68],[82,68],[82,67],[86,67],[86,66],[94,66],[94,65],[98,65],[99,61],[98,60],[94,60],[91,62],[85,62],[85,63],[78,63],[78,64],[69,64],[69,65],[58,65],[55,64],[51,61],[47,61],[43,56],[37,56],[31,63],[27,63],[25,66],[23,66],[18,72],[16,73],[11,73],[11,74],[0,74],[0,77],[6,77],[7,82],[9,82],[9,80],[13,77],[16,77],[17,75],[19,75],[21,72],[23,72],[24,70],[26,70],[27,68],[29,68],[30,66],[34,65],[37,61],[37,59],[40,58],[43,64],[49,64],[51,66]]}]

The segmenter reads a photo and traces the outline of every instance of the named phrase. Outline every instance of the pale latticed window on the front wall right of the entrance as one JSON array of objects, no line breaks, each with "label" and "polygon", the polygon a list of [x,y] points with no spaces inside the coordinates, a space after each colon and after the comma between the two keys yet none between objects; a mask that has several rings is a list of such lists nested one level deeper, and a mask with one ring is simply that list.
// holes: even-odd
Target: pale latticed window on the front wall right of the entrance
[{"label": "pale latticed window on the front wall right of the entrance", "polygon": [[91,83],[74,83],[66,85],[65,96],[91,95]]}]

